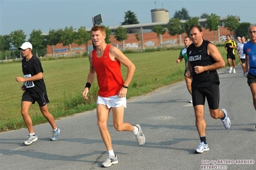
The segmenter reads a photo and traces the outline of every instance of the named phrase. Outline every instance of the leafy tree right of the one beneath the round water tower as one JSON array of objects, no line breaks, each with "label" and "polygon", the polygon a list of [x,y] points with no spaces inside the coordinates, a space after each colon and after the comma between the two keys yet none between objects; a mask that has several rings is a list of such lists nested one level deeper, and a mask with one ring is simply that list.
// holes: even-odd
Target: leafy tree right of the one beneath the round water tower
[{"label": "leafy tree right of the one beneath the round water tower", "polygon": [[184,33],[183,25],[182,22],[180,22],[180,19],[170,19],[167,24],[167,29],[169,35],[177,35],[177,40],[179,40],[178,35]]}]

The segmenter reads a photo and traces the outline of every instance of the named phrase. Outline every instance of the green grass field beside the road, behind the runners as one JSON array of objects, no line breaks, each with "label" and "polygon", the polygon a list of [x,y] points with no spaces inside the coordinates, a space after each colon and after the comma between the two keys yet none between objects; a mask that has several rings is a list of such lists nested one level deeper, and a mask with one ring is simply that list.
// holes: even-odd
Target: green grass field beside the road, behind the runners
[{"label": "green grass field beside the road, behind the runners", "polygon": [[[218,48],[226,61],[225,49]],[[180,50],[164,50],[126,54],[136,66],[127,97],[142,95],[162,86],[183,81],[184,61],[176,64],[179,53]],[[56,119],[96,108],[96,79],[90,88],[90,100],[83,99],[81,95],[89,73],[88,58],[43,59],[42,66],[50,100],[49,111]],[[122,66],[121,69],[123,77],[126,77],[126,68]],[[0,63],[0,70],[0,132],[26,127],[21,116],[22,83],[15,81],[16,77],[23,76],[21,62]],[[30,115],[33,125],[46,123],[37,103],[32,105]]]}]

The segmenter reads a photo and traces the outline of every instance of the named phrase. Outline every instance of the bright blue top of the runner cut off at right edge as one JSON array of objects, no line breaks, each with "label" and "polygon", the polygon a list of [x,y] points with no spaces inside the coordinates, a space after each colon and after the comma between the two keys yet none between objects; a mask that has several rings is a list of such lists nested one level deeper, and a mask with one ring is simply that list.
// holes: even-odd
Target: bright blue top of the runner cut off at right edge
[{"label": "bright blue top of the runner cut off at right edge", "polygon": [[256,43],[251,41],[244,43],[243,53],[248,55],[249,72],[256,76]]}]

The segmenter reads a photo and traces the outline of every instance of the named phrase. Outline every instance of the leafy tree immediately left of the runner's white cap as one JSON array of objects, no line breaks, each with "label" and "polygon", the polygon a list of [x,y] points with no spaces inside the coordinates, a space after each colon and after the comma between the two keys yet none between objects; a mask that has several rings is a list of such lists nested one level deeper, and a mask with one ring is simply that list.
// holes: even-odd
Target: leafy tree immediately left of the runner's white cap
[{"label": "leafy tree immediately left of the runner's white cap", "polygon": [[[26,40],[26,35],[24,31],[22,31],[21,29],[17,31],[12,31],[12,33],[10,33],[10,42],[17,49],[21,47],[22,43],[24,43],[25,40]],[[16,50],[14,53],[16,57],[21,58],[21,51]]]}]

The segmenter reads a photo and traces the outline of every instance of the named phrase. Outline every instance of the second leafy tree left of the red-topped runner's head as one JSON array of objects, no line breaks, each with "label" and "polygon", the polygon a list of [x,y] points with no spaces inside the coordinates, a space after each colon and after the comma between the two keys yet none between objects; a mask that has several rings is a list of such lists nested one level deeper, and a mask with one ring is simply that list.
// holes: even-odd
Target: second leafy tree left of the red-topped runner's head
[{"label": "second leafy tree left of the red-topped runner's head", "polygon": [[63,34],[60,36],[60,40],[62,42],[62,44],[68,45],[69,46],[69,54],[71,54],[71,43],[74,42],[74,29],[73,27],[65,27]]}]

